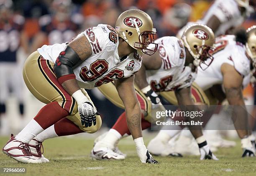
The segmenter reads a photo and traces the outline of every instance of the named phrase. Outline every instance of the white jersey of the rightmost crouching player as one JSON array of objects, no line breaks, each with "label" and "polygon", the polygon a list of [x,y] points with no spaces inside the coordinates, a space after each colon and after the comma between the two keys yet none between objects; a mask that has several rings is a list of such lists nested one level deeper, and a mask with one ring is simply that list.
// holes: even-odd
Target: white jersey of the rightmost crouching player
[{"label": "white jersey of the rightmost crouching player", "polygon": [[216,38],[215,51],[213,54],[212,64],[206,69],[198,68],[197,78],[195,82],[206,90],[214,84],[222,84],[223,75],[221,66],[224,63],[230,64],[246,77],[250,73],[250,59],[246,56],[246,47],[236,42],[236,36],[227,35]]}]

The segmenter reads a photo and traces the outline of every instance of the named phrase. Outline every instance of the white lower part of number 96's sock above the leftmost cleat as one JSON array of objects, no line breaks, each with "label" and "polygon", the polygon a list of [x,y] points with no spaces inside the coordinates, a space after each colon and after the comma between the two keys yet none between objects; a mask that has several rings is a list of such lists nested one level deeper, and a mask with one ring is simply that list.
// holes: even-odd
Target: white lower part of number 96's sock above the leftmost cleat
[{"label": "white lower part of number 96's sock above the leftmost cleat", "polygon": [[44,129],[36,122],[36,120],[31,120],[28,125],[26,125],[23,130],[16,135],[15,139],[22,141],[23,143],[29,143],[36,135],[44,131]]}]

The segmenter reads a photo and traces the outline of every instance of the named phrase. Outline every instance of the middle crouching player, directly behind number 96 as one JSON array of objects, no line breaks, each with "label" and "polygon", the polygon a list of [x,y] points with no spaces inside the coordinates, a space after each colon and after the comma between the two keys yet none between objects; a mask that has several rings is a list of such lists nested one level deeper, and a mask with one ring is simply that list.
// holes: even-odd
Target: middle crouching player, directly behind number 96
[{"label": "middle crouching player, directly behind number 96", "polygon": [[[189,26],[181,40],[176,37],[162,37],[156,40],[159,45],[156,54],[143,57],[141,69],[135,77],[137,97],[140,101],[141,109],[145,112],[142,114],[142,129],[151,127],[151,123],[154,124],[159,120],[155,117],[155,113],[152,112],[156,111],[155,107],[162,106],[156,92],[173,105],[178,104],[183,107],[184,105],[190,105],[186,107],[187,111],[198,110],[191,97],[191,85],[197,74],[197,66],[203,66],[206,62],[205,59],[208,57],[210,58],[209,61],[212,61],[213,58],[210,55],[210,51],[213,49],[214,42],[215,36],[212,30],[201,24]],[[206,68],[208,65],[206,65]],[[117,92],[111,89],[113,86],[113,83],[109,83],[102,85],[99,89],[111,102],[123,107],[120,99],[114,98],[114,94],[117,94]],[[175,102],[175,95],[173,97],[172,90],[175,91],[178,103],[177,100]],[[197,97],[200,97],[200,95],[197,95]],[[161,109],[158,108],[157,111],[161,111]],[[189,121],[191,119],[184,120]],[[178,129],[179,126],[177,125],[176,128]],[[200,159],[218,160],[210,151],[202,135],[201,126],[199,128],[195,125],[189,125],[189,129],[200,148]],[[123,155],[116,148],[117,143],[121,138],[130,134],[124,112],[112,129],[102,139],[95,141],[95,146],[91,152],[92,158],[100,160],[101,158],[95,156],[94,153],[104,147]]]}]

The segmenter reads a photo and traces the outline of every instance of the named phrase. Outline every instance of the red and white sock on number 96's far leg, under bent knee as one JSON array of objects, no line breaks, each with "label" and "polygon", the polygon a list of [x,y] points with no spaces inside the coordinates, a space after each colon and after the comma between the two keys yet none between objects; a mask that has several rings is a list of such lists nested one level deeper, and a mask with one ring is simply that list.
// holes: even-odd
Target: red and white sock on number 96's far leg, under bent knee
[{"label": "red and white sock on number 96's far leg, under bent knee", "polygon": [[51,125],[49,128],[38,134],[35,139],[44,142],[46,139],[56,138],[59,136],[75,135],[78,133],[84,133],[80,128],[67,118],[63,118]]}]

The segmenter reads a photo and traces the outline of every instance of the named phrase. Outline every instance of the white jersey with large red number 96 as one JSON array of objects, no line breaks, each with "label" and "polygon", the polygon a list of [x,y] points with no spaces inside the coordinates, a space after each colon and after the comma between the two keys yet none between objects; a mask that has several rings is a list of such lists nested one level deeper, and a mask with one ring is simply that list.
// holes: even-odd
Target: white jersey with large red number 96
[{"label": "white jersey with large red number 96", "polygon": [[[141,67],[141,56],[131,53],[126,59],[118,56],[118,36],[114,28],[109,25],[99,24],[91,27],[78,36],[84,35],[92,48],[92,55],[74,68],[74,74],[82,88],[92,89],[102,84],[119,78],[131,77]],[[38,48],[38,52],[44,59],[55,63],[61,51],[67,43],[44,45]],[[79,84],[81,86],[81,84]]]}]

